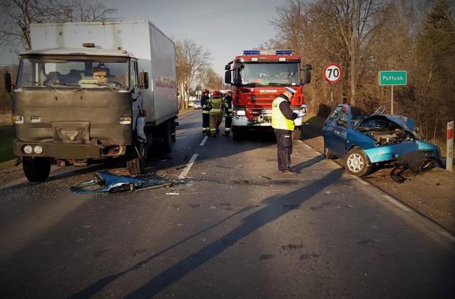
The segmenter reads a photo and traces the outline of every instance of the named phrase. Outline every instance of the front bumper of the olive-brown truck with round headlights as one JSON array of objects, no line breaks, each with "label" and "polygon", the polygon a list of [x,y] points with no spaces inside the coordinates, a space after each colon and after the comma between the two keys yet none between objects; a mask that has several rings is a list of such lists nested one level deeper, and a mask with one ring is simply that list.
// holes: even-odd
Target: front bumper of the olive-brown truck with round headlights
[{"label": "front bumper of the olive-brown truck with round headlights", "polygon": [[[26,153],[25,147],[32,153]],[[117,146],[119,154],[124,152],[124,146]],[[29,150],[29,151],[30,151]],[[74,144],[66,142],[22,142],[13,141],[14,155],[20,157],[51,157],[55,159],[100,159],[113,156],[98,144]],[[107,154],[107,155],[106,155]]]}]

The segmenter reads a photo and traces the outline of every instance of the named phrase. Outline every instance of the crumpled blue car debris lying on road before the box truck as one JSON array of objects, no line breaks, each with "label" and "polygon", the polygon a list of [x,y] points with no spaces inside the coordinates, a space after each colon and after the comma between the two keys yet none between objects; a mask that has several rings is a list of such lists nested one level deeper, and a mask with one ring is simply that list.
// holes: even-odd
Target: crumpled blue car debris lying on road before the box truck
[{"label": "crumpled blue car debris lying on road before the box truck", "polygon": [[101,171],[95,173],[95,178],[79,185],[70,187],[69,190],[75,193],[105,193],[121,192],[132,190],[145,190],[156,187],[167,187],[170,183],[164,183],[162,179],[136,179]]}]

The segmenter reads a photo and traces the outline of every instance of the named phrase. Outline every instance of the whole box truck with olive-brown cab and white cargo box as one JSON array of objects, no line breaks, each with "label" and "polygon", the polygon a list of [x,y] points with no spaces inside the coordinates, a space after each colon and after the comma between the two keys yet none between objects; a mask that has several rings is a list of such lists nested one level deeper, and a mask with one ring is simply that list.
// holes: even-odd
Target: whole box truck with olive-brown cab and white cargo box
[{"label": "whole box truck with olive-brown cab and white cargo box", "polygon": [[160,29],[149,21],[42,23],[30,35],[16,86],[7,86],[14,153],[29,181],[47,180],[51,164],[122,157],[140,174],[149,151],[171,152],[175,50]]}]

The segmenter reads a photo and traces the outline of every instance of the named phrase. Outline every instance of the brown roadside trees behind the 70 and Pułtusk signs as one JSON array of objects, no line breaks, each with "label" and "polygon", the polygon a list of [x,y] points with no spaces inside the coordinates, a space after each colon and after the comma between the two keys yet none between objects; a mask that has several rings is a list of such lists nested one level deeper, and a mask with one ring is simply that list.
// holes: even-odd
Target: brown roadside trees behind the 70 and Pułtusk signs
[{"label": "brown roadside trees behind the 70 and Pu\u0142tusk signs", "polygon": [[[455,118],[454,1],[288,0],[275,8],[275,38],[265,49],[293,49],[312,64],[305,88],[310,110],[327,116],[337,103],[358,112],[391,108],[391,87],[378,85],[380,70],[407,70],[394,89],[394,113],[414,118],[426,139],[443,139]],[[323,80],[326,64],[343,68],[334,88]]]}]

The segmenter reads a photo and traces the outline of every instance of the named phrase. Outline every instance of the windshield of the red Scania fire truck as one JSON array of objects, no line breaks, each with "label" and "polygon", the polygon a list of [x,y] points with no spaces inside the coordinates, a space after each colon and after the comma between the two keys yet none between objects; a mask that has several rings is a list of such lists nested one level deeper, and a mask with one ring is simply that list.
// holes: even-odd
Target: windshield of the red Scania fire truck
[{"label": "windshield of the red Scania fire truck", "polygon": [[238,68],[242,84],[247,85],[299,85],[299,64],[296,63],[245,63]]}]

